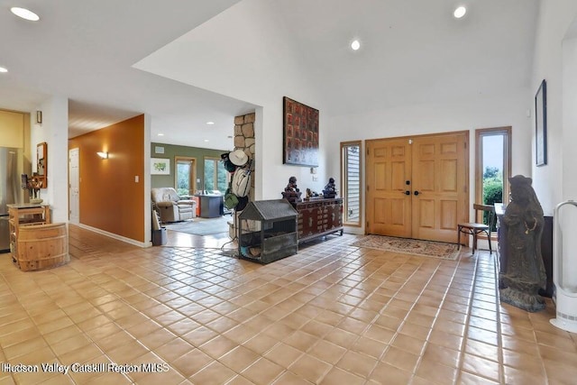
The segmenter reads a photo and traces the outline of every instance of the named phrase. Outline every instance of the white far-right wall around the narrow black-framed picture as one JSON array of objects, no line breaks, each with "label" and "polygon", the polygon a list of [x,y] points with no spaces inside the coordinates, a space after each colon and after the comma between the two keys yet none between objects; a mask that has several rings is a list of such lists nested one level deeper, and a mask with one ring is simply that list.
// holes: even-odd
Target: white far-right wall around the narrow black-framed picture
[{"label": "white far-right wall around the narrow black-framed picture", "polygon": [[[547,82],[547,165],[535,166],[535,154],[532,158],[533,186],[543,206],[545,215],[552,215],[554,206],[564,198],[577,199],[577,189],[567,191],[563,187],[566,181],[574,180],[574,165],[577,164],[577,151],[570,142],[574,134],[574,120],[563,121],[563,106],[575,109],[574,105],[563,103],[563,89],[568,85],[563,79],[563,38],[569,26],[575,20],[577,2],[574,0],[542,1],[537,21],[535,60],[531,79],[534,97],[543,79]],[[569,81],[569,78],[567,78]],[[533,105],[533,110],[535,106]],[[572,119],[568,116],[569,119]],[[532,122],[535,130],[535,122]],[[573,137],[574,139],[574,137]],[[535,135],[532,145],[535,145]]]}]

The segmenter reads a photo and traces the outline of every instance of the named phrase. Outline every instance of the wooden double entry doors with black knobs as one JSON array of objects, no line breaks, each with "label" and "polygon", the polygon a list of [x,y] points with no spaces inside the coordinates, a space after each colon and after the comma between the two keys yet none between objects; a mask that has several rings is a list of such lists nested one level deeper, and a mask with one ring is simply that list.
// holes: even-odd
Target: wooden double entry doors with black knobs
[{"label": "wooden double entry doors with black knobs", "polygon": [[367,141],[367,234],[456,242],[469,214],[466,132]]}]

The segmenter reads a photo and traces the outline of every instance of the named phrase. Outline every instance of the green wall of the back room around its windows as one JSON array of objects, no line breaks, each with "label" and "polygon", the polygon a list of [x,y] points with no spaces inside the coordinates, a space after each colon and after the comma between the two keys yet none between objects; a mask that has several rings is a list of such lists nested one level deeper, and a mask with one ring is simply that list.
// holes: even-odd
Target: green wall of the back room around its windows
[{"label": "green wall of the back room around its windows", "polygon": [[[163,147],[164,153],[156,152],[157,147]],[[175,157],[186,156],[197,160],[197,179],[200,179],[197,189],[203,186],[205,177],[205,158],[218,158],[227,150],[209,150],[197,147],[177,146],[174,144],[151,143],[151,158],[164,158],[170,160],[169,175],[151,175],[151,188],[174,188],[175,187]]]}]

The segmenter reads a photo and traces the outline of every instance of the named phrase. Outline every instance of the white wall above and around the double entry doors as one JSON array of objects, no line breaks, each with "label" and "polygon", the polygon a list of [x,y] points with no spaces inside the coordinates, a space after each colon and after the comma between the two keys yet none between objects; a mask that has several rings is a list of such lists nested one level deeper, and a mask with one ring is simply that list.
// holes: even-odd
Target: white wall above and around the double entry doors
[{"label": "white wall above and around the double entry doors", "polygon": [[[469,199],[474,202],[476,129],[511,126],[512,173],[530,175],[531,118],[527,116],[530,108],[527,92],[527,89],[519,89],[509,96],[480,97],[451,104],[409,105],[362,115],[333,117],[329,122],[331,135],[327,138],[327,150],[338,151],[339,142],[344,141],[470,131]],[[339,170],[338,159],[331,160],[327,172],[338,175]]]}]

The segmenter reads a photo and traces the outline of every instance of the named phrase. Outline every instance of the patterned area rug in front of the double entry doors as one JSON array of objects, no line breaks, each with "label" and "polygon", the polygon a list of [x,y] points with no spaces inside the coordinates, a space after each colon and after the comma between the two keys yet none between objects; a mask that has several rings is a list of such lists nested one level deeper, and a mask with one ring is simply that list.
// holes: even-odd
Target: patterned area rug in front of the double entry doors
[{"label": "patterned area rug in front of the double entry doors", "polygon": [[459,255],[459,247],[453,243],[395,238],[384,235],[367,235],[351,245],[387,252],[402,252],[421,257],[441,258],[444,260],[455,260]]}]

